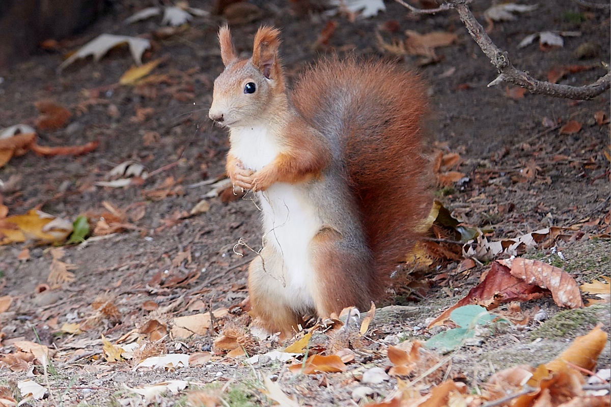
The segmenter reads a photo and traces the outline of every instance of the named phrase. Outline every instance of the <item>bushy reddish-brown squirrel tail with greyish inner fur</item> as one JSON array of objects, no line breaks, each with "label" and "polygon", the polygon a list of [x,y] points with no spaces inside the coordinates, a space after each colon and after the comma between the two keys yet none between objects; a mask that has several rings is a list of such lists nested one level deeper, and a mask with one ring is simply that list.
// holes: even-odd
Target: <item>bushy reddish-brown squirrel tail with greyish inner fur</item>
[{"label": "bushy reddish-brown squirrel tail with greyish inner fur", "polygon": [[375,256],[378,295],[428,214],[421,154],[427,99],[416,74],[357,59],[319,63],[293,92],[297,109],[331,141],[335,159],[343,159]]}]

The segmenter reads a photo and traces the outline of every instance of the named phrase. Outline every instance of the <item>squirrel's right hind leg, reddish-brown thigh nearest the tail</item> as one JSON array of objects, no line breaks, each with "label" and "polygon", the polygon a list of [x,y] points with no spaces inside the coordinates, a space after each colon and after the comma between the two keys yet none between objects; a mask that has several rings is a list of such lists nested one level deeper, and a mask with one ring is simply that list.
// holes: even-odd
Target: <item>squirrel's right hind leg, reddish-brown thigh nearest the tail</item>
[{"label": "squirrel's right hind leg, reddish-brown thigh nearest the tail", "polygon": [[351,246],[332,228],[322,228],[310,243],[316,284],[313,299],[319,317],[340,314],[349,306],[369,309],[373,300],[371,254],[364,245],[359,249]]}]

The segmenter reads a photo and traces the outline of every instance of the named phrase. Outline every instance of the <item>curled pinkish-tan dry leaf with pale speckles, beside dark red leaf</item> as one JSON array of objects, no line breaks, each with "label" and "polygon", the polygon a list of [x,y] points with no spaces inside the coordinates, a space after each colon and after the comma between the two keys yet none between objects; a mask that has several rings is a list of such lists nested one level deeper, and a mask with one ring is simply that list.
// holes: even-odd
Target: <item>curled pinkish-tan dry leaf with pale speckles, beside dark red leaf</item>
[{"label": "curled pinkish-tan dry leaf with pale speckles, beside dark red leaf", "polygon": [[554,302],[561,307],[578,308],[584,306],[575,279],[562,268],[554,267],[537,260],[505,259],[500,264],[510,268],[510,273],[527,284],[535,284],[552,292]]}]

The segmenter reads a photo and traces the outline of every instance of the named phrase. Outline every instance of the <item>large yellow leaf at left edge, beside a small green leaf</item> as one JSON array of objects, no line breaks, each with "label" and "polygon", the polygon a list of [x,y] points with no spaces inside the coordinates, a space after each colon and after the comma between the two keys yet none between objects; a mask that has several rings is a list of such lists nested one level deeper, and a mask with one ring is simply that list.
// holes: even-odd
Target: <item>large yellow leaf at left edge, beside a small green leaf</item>
[{"label": "large yellow leaf at left edge, beside a small green leaf", "polygon": [[0,220],[0,245],[28,239],[37,243],[63,242],[71,232],[71,222],[31,209],[24,215]]}]

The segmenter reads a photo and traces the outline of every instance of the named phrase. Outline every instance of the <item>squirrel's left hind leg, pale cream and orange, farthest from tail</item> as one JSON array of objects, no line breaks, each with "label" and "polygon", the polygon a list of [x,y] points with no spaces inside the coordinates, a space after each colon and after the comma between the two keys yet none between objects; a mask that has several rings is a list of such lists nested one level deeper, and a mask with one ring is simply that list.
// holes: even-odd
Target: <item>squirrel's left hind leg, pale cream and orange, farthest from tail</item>
[{"label": "squirrel's left hind leg, pale cream and orange, farthest from tail", "polygon": [[252,314],[269,333],[280,332],[283,339],[286,339],[299,331],[298,325],[303,325],[303,320],[285,300],[286,288],[279,280],[282,273],[274,273],[277,267],[281,267],[277,263],[282,259],[271,251],[271,247],[264,247],[261,256],[254,259],[248,268]]}]

